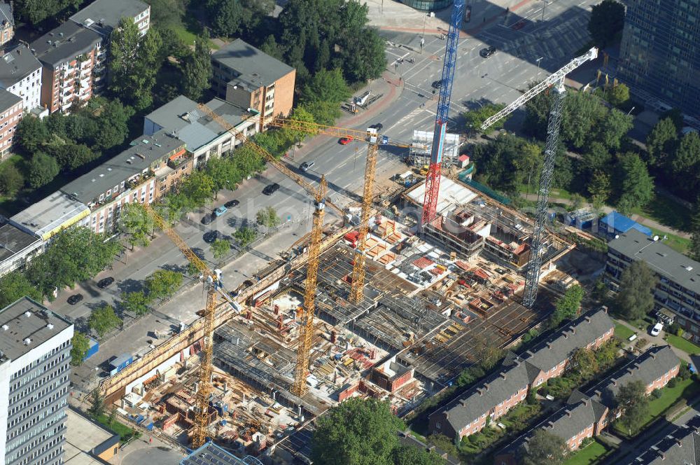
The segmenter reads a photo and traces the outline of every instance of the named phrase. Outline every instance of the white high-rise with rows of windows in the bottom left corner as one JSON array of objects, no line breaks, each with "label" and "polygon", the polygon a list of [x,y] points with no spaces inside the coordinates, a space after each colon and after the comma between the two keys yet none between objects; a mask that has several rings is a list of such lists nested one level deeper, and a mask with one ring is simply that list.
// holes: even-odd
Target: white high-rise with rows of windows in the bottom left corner
[{"label": "white high-rise with rows of windows in the bottom left corner", "polygon": [[72,338],[30,298],[0,310],[0,465],[63,463]]}]

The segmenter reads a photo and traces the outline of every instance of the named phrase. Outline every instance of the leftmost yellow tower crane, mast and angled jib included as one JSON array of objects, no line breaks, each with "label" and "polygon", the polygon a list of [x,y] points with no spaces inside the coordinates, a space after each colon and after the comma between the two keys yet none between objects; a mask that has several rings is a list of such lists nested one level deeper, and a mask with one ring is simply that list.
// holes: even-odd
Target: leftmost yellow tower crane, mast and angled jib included
[{"label": "leftmost yellow tower crane, mast and angled jib included", "polygon": [[156,225],[165,231],[165,234],[174,242],[190,263],[202,272],[204,286],[207,289],[207,306],[204,307],[204,335],[202,336],[202,352],[200,357],[200,382],[197,389],[197,410],[195,411],[195,426],[192,435],[194,448],[204,445],[207,440],[207,428],[209,426],[209,395],[211,394],[211,359],[214,337],[214,314],[216,312],[216,289],[220,286],[215,272],[211,271],[204,261],[190,249],[177,232],[160,216],[150,205],[144,204],[144,208],[151,215]]}]

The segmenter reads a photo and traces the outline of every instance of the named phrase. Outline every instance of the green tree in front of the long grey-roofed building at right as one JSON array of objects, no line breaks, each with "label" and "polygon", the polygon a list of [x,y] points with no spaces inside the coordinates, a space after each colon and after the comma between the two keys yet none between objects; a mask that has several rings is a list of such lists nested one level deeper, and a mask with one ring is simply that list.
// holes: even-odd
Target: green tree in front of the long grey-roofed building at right
[{"label": "green tree in front of the long grey-roofed building at right", "polygon": [[628,320],[643,318],[654,308],[657,277],[644,261],[633,261],[622,271],[615,298],[617,312]]}]

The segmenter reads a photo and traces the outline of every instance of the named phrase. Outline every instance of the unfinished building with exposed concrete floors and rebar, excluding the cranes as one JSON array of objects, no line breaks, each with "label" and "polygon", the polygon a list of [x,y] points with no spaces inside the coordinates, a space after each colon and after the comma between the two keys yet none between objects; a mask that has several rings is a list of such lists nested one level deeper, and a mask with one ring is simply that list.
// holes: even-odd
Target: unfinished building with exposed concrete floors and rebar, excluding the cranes
[{"label": "unfinished building with exposed concrete floors and rebar, excluding the cranes", "polygon": [[[241,294],[244,305],[219,307],[218,315],[228,313],[214,333],[207,412],[209,434],[219,445],[264,454],[277,438],[353,396],[386,400],[395,412],[407,412],[476,363],[479,344],[507,348],[547,317],[548,305],[527,309],[515,297],[524,286],[519,257],[528,252],[526,218],[458,183],[445,184],[450,197],[428,225],[427,241],[396,219],[370,218],[365,286],[356,303],[350,291],[358,232],[328,233],[318,262],[303,396],[292,392],[307,284],[303,256],[260,272],[259,284]],[[459,205],[451,207],[455,199]],[[440,229],[437,221],[451,223]],[[490,247],[495,240],[503,250],[511,247],[510,255]],[[194,340],[181,347],[125,384],[118,406],[139,424],[188,443],[202,345]]]}]

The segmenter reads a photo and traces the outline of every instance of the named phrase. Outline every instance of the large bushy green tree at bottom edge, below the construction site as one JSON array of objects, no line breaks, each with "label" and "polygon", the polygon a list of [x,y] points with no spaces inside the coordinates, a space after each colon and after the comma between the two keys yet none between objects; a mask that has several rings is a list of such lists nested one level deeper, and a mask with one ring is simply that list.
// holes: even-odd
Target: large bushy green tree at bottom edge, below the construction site
[{"label": "large bushy green tree at bottom edge, below the construction site", "polygon": [[390,465],[404,427],[388,403],[350,398],[316,420],[311,459],[319,465]]}]

